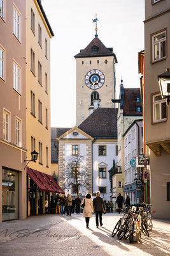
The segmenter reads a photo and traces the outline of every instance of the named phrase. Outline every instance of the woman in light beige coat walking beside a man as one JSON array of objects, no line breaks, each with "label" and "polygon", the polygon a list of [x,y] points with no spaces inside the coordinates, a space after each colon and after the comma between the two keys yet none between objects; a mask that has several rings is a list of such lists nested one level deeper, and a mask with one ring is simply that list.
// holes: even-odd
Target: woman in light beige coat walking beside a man
[{"label": "woman in light beige coat walking beside a man", "polygon": [[[87,193],[83,202],[84,201],[85,201],[85,207],[83,209],[83,217],[85,218],[86,227],[89,228],[89,221],[90,221],[90,218],[92,218],[92,212],[94,213],[92,196],[90,195],[90,193]],[[81,205],[83,204],[83,202],[81,202]]]}]

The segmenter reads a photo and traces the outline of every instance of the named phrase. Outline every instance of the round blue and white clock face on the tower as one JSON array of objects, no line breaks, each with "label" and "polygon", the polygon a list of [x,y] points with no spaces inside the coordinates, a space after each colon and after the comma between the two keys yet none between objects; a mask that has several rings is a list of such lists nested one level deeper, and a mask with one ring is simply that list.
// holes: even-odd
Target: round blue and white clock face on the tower
[{"label": "round blue and white clock face on the tower", "polygon": [[104,74],[98,69],[92,69],[85,75],[85,84],[92,90],[101,88],[104,84]]}]

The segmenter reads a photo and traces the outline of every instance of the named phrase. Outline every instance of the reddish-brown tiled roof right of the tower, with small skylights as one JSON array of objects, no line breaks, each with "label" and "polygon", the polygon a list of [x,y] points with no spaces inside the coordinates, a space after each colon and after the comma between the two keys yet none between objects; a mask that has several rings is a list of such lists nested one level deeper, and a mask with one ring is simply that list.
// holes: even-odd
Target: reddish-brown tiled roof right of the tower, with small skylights
[{"label": "reddish-brown tiled roof right of the tower, with small skylights", "polygon": [[[136,98],[140,102],[136,102]],[[137,112],[137,107],[141,107],[141,112]],[[124,115],[143,115],[140,88],[124,88]]]}]

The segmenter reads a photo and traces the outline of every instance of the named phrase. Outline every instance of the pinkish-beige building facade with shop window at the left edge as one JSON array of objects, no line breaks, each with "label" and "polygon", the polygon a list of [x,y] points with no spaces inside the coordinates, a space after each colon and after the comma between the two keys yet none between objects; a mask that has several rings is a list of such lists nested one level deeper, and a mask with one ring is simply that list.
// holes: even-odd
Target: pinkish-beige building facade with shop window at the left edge
[{"label": "pinkish-beige building facade with shop window at the left edge", "polygon": [[25,1],[0,2],[0,222],[26,218]]}]

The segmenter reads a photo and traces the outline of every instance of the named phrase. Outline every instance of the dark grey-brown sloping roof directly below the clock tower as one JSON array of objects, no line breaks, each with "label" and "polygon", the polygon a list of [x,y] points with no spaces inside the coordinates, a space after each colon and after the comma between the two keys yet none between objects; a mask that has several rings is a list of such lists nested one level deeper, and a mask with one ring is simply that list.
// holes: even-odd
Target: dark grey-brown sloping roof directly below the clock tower
[{"label": "dark grey-brown sloping roof directly below the clock tower", "polygon": [[78,128],[95,139],[117,139],[117,108],[97,108]]}]

